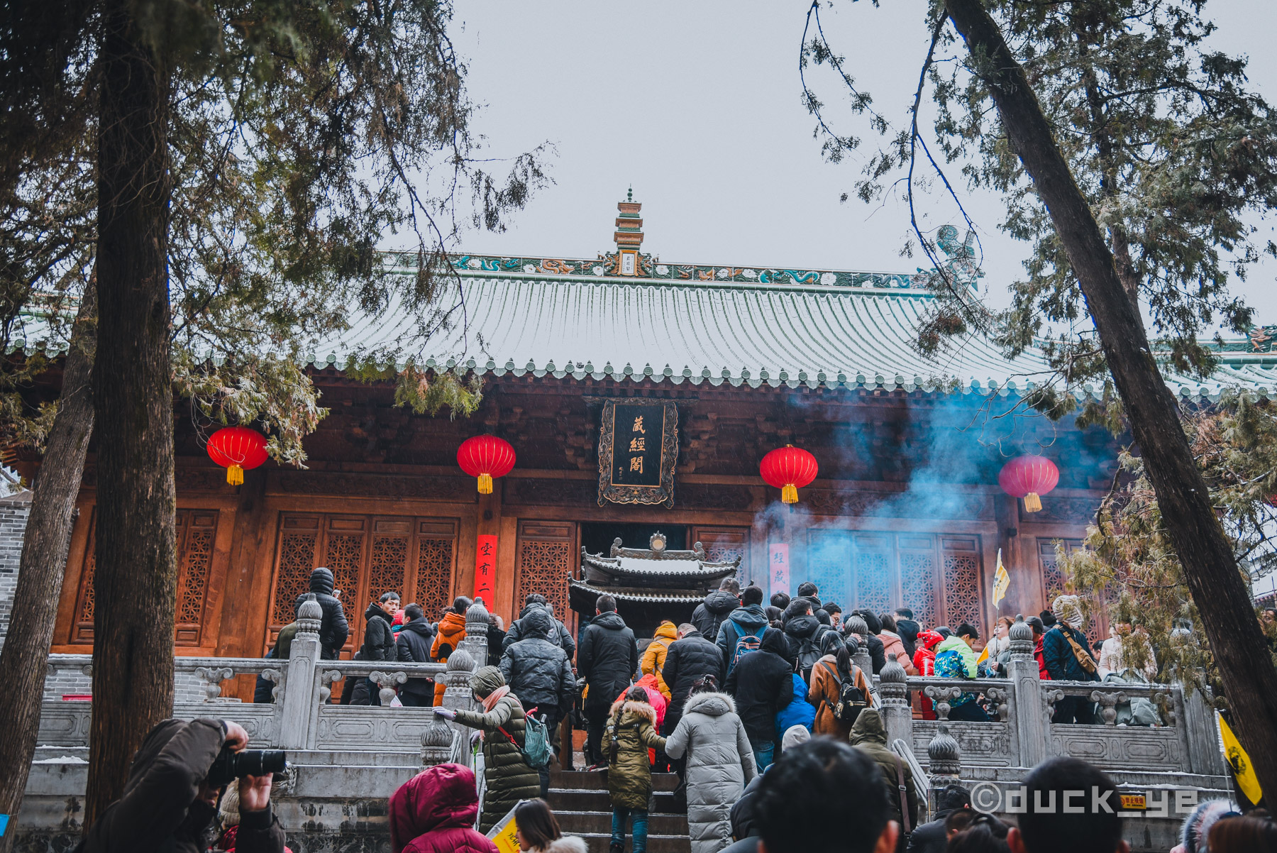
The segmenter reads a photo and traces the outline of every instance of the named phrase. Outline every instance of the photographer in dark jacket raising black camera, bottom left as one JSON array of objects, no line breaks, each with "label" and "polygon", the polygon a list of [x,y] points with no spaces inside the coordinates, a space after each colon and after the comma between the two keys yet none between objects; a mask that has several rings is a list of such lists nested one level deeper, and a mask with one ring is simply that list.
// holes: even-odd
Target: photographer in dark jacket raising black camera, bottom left
[{"label": "photographer in dark jacket raising black camera, bottom left", "polygon": [[222,788],[236,781],[236,852],[283,853],[283,827],[271,815],[271,779],[285,769],[285,756],[246,746],[248,732],[231,720],[160,723],[133,756],[124,794],[89,827],[80,853],[204,853]]}]

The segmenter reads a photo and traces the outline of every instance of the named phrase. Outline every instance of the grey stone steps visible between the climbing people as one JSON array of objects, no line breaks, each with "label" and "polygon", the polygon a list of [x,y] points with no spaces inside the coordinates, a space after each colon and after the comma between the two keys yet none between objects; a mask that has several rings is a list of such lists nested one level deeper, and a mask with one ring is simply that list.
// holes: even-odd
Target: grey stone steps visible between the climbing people
[{"label": "grey stone steps visible between the climbing people", "polygon": [[[674,808],[673,790],[677,784],[678,776],[672,773],[651,774],[655,794],[647,816],[649,853],[691,853],[687,810]],[[612,838],[612,802],[608,799],[607,774],[552,771],[549,804],[564,833],[584,838],[590,853],[608,853],[608,842]],[[632,848],[633,839],[627,835],[627,853]]]}]

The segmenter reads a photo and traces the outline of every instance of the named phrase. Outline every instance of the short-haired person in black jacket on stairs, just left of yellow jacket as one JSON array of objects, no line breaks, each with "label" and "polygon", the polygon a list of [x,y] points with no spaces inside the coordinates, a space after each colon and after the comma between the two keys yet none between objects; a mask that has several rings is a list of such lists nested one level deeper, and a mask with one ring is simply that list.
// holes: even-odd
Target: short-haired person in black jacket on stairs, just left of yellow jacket
[{"label": "short-haired person in black jacket on stairs, just left of yellow jacket", "polygon": [[617,614],[617,600],[600,595],[595,601],[595,617],[581,635],[581,647],[576,668],[590,691],[585,700],[586,761],[591,766],[607,766],[603,755],[603,728],[612,713],[612,701],[633,683],[638,670],[638,644],[635,632],[626,627]]}]

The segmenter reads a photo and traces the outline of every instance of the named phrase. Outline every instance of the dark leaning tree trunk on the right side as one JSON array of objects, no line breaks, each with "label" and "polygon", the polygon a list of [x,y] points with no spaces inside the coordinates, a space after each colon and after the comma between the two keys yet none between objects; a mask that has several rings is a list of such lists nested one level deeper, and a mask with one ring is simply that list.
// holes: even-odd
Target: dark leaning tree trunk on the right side
[{"label": "dark leaning tree trunk on the right side", "polygon": [[981,0],[946,0],[945,5],[967,41],[977,73],[988,84],[1008,137],[1050,211],[1082,285],[1131,433],[1153,483],[1162,521],[1202,615],[1237,734],[1259,783],[1272,797],[1277,793],[1277,669],[1232,547],[1189,451],[1175,397],[1157,369],[1114,255],[997,23]]}]

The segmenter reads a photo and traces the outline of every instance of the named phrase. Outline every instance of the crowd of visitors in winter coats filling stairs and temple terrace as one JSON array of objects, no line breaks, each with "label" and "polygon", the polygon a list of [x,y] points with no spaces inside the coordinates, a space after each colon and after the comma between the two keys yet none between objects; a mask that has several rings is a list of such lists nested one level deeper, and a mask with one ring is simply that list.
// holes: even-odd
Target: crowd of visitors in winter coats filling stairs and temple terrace
[{"label": "crowd of visitors in winter coats filling stairs and temple terrace", "polygon": [[[315,570],[310,589],[323,613],[322,654],[336,658],[349,627],[328,570]],[[387,593],[364,613],[368,624],[356,658],[447,660],[465,637],[470,607],[458,598],[430,622],[418,604],[400,608],[398,596]],[[522,849],[578,849],[580,839],[562,838],[545,804],[549,756],[557,756],[559,767],[573,766],[573,728],[585,729],[587,770],[607,774],[612,853],[622,853],[627,839],[635,853],[646,849],[654,771],[679,776],[676,797],[686,802],[693,853],[1125,849],[1120,816],[1060,821],[1022,815],[1009,826],[974,811],[960,787],[940,792],[931,821],[918,825],[927,792],[914,781],[909,762],[888,746],[872,676],[893,658],[909,676],[1005,676],[1013,624],[1008,618],[997,622],[982,649],[979,631],[968,623],[927,627],[907,608],[844,613],[836,603],[822,601],[810,582],[792,599],[775,594],[764,604],[761,587],[741,589],[727,578],[691,621],[661,622],[642,650],[610,595],[598,598],[575,638],[541,595],[527,596],[508,630],[495,615],[489,621],[488,659],[470,681],[478,710],[443,707],[439,687],[429,679],[410,678],[392,700],[433,705],[438,716],[472,729],[484,756],[481,811],[470,770],[432,767],[391,799],[393,853],[406,847],[411,853],[493,849],[483,834],[512,808],[518,810]],[[1102,645],[1088,641],[1077,596],[1056,598],[1048,612],[1027,622],[1042,678],[1156,674],[1152,649],[1140,647],[1138,628],[1130,624],[1115,626]],[[294,635],[295,626],[286,627],[272,654],[286,658]],[[870,665],[862,669],[856,660],[866,656]],[[375,684],[346,681],[340,701],[381,701]],[[937,710],[921,691],[912,691],[911,701],[918,718],[936,719]],[[988,719],[978,690],[949,705],[951,720]],[[1093,723],[1096,715],[1079,696],[1057,701],[1054,719]],[[1024,783],[1043,790],[1112,788],[1102,773],[1073,759],[1054,759]],[[1223,827],[1221,839],[1269,843],[1273,825],[1262,813],[1218,819],[1199,820],[1191,831],[1186,824],[1185,853],[1271,849],[1230,847],[1235,843],[1227,840],[1216,845],[1216,822]],[[469,829],[475,824],[478,833]]]}]

